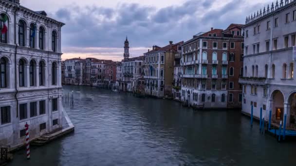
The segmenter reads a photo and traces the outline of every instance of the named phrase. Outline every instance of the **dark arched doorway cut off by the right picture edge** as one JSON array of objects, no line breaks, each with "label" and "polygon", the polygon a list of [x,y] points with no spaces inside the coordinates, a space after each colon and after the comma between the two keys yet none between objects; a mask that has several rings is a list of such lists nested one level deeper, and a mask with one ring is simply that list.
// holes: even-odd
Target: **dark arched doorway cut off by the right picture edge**
[{"label": "dark arched doorway cut off by the right picture edge", "polygon": [[[296,129],[296,92],[289,96],[288,104],[290,106],[290,116],[287,118],[288,124],[290,123],[290,128]],[[289,112],[288,112],[289,114]]]}]

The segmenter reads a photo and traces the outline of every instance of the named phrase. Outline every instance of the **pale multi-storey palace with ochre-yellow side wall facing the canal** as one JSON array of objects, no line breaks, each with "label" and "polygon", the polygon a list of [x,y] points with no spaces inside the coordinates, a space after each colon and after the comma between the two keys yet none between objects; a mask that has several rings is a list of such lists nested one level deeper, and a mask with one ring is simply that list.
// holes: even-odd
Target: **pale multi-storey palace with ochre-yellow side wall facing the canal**
[{"label": "pale multi-storey palace with ochre-yellow side wall facing the canal", "polygon": [[173,97],[175,55],[180,54],[183,42],[153,49],[144,54],[145,58],[145,94],[157,98]]}]

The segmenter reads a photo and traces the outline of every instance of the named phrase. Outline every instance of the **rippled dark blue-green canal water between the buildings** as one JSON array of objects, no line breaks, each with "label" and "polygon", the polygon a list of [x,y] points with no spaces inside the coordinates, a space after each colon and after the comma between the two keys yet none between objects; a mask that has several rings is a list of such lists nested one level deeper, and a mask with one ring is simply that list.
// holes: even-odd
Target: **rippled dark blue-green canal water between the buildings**
[{"label": "rippled dark blue-green canal water between the buildings", "polygon": [[261,135],[240,110],[193,112],[171,100],[94,87],[66,108],[75,132],[14,154],[9,166],[295,166],[296,143]]}]

